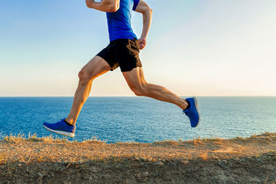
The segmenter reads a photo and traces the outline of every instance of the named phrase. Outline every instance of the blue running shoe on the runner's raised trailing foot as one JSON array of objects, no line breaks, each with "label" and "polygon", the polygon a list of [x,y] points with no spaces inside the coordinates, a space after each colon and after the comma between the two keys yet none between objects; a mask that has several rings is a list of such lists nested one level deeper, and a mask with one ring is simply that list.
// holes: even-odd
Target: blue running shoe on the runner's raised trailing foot
[{"label": "blue running shoe on the runner's raised trailing foot", "polygon": [[186,99],[188,103],[190,103],[190,107],[187,110],[183,110],[183,112],[190,119],[190,126],[197,127],[200,121],[200,115],[197,105],[197,99],[195,97]]}]

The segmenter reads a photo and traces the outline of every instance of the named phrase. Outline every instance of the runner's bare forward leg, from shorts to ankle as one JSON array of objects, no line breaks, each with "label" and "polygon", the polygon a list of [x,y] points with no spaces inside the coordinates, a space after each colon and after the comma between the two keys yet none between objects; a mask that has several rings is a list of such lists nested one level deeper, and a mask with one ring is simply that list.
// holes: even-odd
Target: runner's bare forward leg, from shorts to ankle
[{"label": "runner's bare forward leg, from shorts to ankle", "polygon": [[79,72],[79,85],[75,92],[72,108],[66,121],[72,125],[76,124],[79,112],[90,94],[92,81],[101,74],[111,70],[110,65],[101,57],[91,59]]}]

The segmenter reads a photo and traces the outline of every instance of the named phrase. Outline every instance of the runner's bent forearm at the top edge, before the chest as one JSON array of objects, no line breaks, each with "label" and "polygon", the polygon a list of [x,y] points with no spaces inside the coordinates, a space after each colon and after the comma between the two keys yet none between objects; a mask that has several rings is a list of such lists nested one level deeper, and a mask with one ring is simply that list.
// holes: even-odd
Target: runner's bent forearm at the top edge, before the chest
[{"label": "runner's bent forearm at the top edge, before the chest", "polygon": [[120,7],[120,0],[103,0],[101,2],[86,0],[86,6],[102,12],[116,12]]}]

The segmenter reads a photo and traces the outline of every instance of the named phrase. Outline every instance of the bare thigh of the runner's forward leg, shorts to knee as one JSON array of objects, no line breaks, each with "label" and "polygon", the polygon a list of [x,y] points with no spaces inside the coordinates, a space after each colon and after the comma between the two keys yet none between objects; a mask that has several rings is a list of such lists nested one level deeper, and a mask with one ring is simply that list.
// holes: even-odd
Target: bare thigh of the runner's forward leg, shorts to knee
[{"label": "bare thigh of the runner's forward leg, shorts to knee", "polygon": [[83,66],[81,73],[92,79],[110,70],[111,67],[106,60],[95,56],[86,65]]}]

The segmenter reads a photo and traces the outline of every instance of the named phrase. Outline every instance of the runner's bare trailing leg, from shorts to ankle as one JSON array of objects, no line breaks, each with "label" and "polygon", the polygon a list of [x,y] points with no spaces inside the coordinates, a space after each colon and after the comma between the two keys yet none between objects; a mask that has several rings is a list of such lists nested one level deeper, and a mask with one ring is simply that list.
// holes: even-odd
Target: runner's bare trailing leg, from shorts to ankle
[{"label": "runner's bare trailing leg, from shorts to ankle", "polygon": [[188,106],[185,99],[181,99],[181,97],[170,92],[166,88],[160,85],[147,83],[144,79],[144,72],[141,67],[134,68],[129,72],[123,72],[123,75],[128,86],[137,96],[148,96],[159,101],[173,103],[182,110],[186,109]]}]

